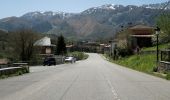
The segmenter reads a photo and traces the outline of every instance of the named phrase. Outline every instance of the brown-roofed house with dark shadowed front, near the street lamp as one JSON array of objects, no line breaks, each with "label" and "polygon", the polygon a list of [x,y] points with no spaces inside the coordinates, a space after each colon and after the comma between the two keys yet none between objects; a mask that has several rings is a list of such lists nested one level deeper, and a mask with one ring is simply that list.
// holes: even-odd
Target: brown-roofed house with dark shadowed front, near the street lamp
[{"label": "brown-roofed house with dark shadowed front, near the street lamp", "polygon": [[132,48],[152,46],[154,28],[145,25],[136,25],[129,28]]}]

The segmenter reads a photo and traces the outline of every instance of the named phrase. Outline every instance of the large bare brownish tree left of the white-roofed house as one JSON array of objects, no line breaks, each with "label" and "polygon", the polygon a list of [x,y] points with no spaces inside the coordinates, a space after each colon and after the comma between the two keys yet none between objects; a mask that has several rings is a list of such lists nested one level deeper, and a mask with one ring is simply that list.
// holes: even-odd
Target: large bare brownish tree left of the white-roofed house
[{"label": "large bare brownish tree left of the white-roofed house", "polygon": [[30,61],[34,54],[34,43],[38,35],[31,30],[19,30],[11,33],[10,44],[14,57],[21,61]]}]

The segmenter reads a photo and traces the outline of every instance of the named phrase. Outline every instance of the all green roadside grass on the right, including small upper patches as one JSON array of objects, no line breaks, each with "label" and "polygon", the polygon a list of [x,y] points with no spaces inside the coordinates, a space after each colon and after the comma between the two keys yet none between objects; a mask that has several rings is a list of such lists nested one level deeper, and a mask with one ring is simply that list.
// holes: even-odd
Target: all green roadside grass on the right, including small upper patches
[{"label": "all green roadside grass on the right, including small upper patches", "polygon": [[[169,46],[168,44],[159,45],[159,49],[167,48]],[[156,46],[149,47],[149,48],[143,48],[142,51],[153,51],[156,50]],[[109,58],[105,55],[105,57]],[[113,63],[141,71],[147,74],[151,74],[157,77],[161,77],[167,80],[170,80],[170,72],[167,73],[158,73],[154,72],[153,69],[157,66],[156,65],[156,54],[154,53],[143,53],[139,55],[132,55],[124,58],[120,58],[119,60],[113,60],[109,58],[109,60]]]}]

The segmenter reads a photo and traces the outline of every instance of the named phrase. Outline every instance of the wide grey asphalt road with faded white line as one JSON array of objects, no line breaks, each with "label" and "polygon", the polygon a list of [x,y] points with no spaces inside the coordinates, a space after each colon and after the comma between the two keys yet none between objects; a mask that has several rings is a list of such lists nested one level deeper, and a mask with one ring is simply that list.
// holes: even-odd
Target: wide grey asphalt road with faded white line
[{"label": "wide grey asphalt road with faded white line", "polygon": [[89,55],[0,80],[0,100],[170,100],[169,81]]}]

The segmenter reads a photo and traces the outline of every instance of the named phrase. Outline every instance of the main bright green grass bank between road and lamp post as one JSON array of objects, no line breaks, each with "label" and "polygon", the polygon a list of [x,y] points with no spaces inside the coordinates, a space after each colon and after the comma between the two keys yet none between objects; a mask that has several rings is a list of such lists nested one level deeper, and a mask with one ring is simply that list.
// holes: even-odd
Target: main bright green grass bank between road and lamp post
[{"label": "main bright green grass bank between road and lamp post", "polygon": [[152,72],[153,68],[156,66],[156,56],[154,54],[132,55],[114,62],[138,71],[149,73]]}]

